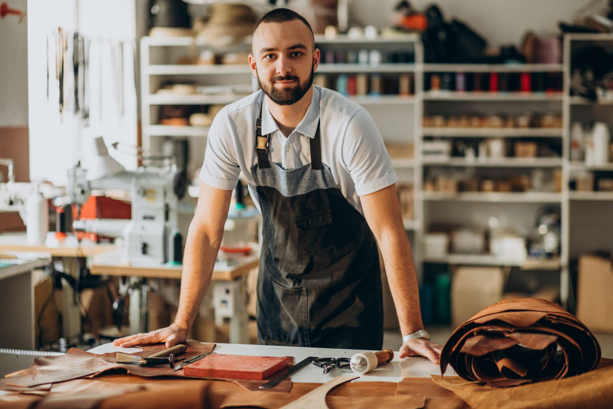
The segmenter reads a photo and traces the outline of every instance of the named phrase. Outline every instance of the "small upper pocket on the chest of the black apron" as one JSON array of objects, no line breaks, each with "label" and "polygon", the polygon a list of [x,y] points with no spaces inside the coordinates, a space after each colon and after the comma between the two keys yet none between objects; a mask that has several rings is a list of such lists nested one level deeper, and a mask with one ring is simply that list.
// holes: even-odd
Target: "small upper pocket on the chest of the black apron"
[{"label": "small upper pocket on the chest of the black apron", "polygon": [[305,254],[324,250],[335,243],[330,209],[294,219],[300,246]]}]

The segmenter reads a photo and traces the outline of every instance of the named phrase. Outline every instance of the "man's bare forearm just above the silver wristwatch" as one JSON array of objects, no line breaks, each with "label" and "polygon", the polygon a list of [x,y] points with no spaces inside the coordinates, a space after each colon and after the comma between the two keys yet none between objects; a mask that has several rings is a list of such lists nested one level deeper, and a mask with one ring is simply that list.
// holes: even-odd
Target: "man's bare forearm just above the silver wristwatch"
[{"label": "man's bare forearm just above the silver wristwatch", "polygon": [[383,254],[387,282],[396,306],[400,331],[406,335],[423,329],[415,262],[406,233],[389,231],[381,234],[379,247]]}]

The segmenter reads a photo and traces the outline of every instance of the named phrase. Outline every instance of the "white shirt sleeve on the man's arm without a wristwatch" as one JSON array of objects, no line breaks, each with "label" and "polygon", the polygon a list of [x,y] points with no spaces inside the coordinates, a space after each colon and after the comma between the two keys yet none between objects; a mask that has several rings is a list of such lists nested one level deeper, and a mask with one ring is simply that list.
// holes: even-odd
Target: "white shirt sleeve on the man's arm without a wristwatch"
[{"label": "white shirt sleeve on the man's arm without a wristwatch", "polygon": [[200,179],[213,188],[232,190],[238,182],[240,167],[227,123],[227,114],[221,110],[208,131],[207,150],[200,169]]}]

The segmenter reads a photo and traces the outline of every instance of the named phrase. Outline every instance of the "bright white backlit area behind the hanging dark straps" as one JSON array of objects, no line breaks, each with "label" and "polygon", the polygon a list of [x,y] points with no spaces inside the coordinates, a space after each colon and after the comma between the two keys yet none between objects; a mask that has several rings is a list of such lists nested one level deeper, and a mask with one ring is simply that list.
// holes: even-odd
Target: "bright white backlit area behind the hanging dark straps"
[{"label": "bright white backlit area behind the hanging dark straps", "polygon": [[[77,161],[87,167],[91,140],[103,136],[107,145],[116,140],[135,145],[137,140],[136,92],[131,40],[135,38],[134,0],[30,0],[28,2],[29,159],[31,180],[66,183],[66,171]],[[55,79],[53,31],[69,33],[64,63],[64,112],[59,114],[59,86]],[[72,34],[93,38],[89,53],[89,126],[74,115]],[[47,38],[50,51],[50,87],[47,100]],[[118,102],[112,48],[124,47],[124,114]],[[116,58],[119,61],[119,58]],[[102,70],[101,70],[102,68]],[[102,73],[102,77],[101,77]],[[102,104],[101,104],[102,101]],[[101,110],[102,107],[102,110]],[[113,154],[129,169],[134,156]]]}]

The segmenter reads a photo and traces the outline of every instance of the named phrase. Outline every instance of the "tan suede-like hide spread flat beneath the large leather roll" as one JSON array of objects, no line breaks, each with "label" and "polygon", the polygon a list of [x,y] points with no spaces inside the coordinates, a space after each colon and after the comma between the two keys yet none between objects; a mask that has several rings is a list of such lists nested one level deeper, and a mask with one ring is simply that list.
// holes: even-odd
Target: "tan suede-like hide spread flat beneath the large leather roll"
[{"label": "tan suede-like hide spread flat beneath the large leather roll", "polygon": [[513,388],[494,388],[460,377],[432,379],[454,392],[474,409],[558,409],[611,408],[613,402],[613,365],[603,358],[604,365],[575,377],[528,383]]}]

